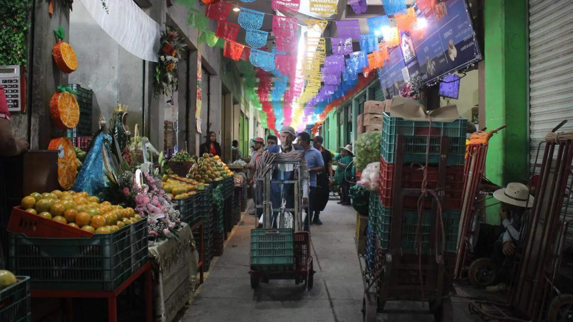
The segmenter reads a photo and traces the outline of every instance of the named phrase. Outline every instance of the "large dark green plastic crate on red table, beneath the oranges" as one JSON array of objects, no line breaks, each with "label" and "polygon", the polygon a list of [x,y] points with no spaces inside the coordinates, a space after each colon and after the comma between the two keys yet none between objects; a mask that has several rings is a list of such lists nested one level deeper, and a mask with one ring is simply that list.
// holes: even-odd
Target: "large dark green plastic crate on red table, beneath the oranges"
[{"label": "large dark green plastic crate on red table, beneath the oranges", "polygon": [[9,237],[10,270],[34,289],[113,290],[148,261],[146,219],[91,238]]}]

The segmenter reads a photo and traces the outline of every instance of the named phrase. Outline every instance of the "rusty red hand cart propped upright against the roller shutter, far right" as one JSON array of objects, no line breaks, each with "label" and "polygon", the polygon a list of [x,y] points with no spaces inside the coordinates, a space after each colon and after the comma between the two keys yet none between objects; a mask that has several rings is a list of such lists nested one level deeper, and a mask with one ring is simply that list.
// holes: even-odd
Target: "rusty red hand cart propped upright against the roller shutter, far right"
[{"label": "rusty red hand cart propped upright against the roller shutter, far right", "polygon": [[[565,122],[552,132],[557,131]],[[529,213],[531,227],[525,236],[523,249],[515,254],[506,303],[472,301],[469,310],[486,321],[557,322],[573,320],[573,296],[563,294],[556,280],[567,237],[569,206],[573,204],[573,140],[547,139],[539,182],[535,186],[535,201]],[[539,166],[536,162],[533,167]],[[550,301],[551,299],[551,301]]]}]

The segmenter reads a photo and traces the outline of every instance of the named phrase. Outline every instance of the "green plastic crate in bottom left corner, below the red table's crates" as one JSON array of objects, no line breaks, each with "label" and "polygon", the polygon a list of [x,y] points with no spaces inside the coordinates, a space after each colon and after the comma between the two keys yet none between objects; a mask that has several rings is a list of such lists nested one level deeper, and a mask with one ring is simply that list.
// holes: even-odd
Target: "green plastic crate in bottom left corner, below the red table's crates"
[{"label": "green plastic crate in bottom left corner, below the red table's crates", "polygon": [[16,276],[18,282],[0,290],[0,321],[29,322],[32,317],[30,307],[30,277]]}]

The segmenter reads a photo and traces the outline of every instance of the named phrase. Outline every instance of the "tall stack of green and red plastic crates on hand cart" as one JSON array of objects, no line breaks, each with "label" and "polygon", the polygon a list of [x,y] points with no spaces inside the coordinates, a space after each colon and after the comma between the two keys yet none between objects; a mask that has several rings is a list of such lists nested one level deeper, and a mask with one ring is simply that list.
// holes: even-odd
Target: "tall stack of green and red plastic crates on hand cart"
[{"label": "tall stack of green and red plastic crates on hand cart", "polygon": [[[438,164],[440,160],[441,137],[448,140],[448,157],[444,198],[442,202],[442,220],[445,230],[445,251],[456,252],[458,226],[460,224],[461,197],[464,188],[465,137],[467,120],[460,118],[452,122],[410,121],[400,117],[390,117],[384,113],[382,127],[382,146],[380,148],[380,188],[379,208],[372,229],[381,250],[390,246],[391,225],[393,219],[394,189],[422,189],[424,181],[423,166],[426,165],[426,187],[429,190],[438,187]],[[402,187],[394,187],[397,159],[397,138],[403,135],[402,151]],[[428,140],[429,151],[428,151]],[[421,234],[422,250],[430,248],[430,229],[433,221],[431,210],[433,198],[426,195],[423,202],[421,226],[418,230],[418,196],[403,197],[401,247],[405,253],[415,252],[417,235]],[[371,202],[372,203],[372,202]],[[371,205],[372,206],[372,205]],[[396,217],[396,216],[395,216]],[[399,216],[398,216],[399,218]]]}]

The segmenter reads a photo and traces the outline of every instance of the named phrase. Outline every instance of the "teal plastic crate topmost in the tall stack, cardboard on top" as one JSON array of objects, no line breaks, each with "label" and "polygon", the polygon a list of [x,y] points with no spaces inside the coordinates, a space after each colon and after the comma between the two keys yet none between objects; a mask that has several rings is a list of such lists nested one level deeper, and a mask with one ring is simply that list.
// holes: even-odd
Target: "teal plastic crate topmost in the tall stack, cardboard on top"
[{"label": "teal plastic crate topmost in the tall stack, cardboard on top", "polygon": [[384,113],[380,155],[389,163],[394,163],[396,140],[402,134],[404,138],[403,163],[426,163],[428,135],[430,135],[430,154],[428,162],[439,163],[439,148],[441,136],[448,137],[448,159],[450,165],[457,166],[465,163],[465,139],[468,120],[460,119],[452,122],[407,121],[401,117],[391,117]]}]

